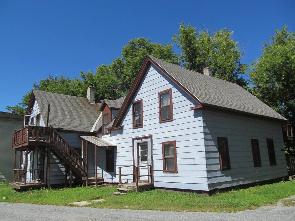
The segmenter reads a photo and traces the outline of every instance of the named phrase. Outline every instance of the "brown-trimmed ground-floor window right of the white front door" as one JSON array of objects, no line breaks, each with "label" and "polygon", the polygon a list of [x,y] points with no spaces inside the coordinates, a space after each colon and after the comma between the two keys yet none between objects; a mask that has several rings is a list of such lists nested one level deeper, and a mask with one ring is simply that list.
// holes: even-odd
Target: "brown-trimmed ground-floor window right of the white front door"
[{"label": "brown-trimmed ground-floor window right of the white front door", "polygon": [[177,173],[176,141],[162,143],[163,172]]}]

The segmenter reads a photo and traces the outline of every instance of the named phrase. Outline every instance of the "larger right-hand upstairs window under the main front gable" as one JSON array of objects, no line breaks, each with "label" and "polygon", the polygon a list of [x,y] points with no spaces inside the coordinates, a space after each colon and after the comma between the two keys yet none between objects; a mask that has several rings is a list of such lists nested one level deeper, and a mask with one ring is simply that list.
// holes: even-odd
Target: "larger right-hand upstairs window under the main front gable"
[{"label": "larger right-hand upstairs window under the main front gable", "polygon": [[159,115],[160,123],[173,120],[171,89],[159,93]]}]

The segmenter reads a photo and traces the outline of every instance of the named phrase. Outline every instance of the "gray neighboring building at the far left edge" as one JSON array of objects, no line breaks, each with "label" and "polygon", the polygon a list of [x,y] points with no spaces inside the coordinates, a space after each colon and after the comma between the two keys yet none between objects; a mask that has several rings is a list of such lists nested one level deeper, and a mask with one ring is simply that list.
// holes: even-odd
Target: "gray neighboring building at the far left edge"
[{"label": "gray neighboring building at the far left edge", "polygon": [[15,130],[22,129],[24,115],[0,111],[0,183],[12,181],[14,150],[11,138]]}]

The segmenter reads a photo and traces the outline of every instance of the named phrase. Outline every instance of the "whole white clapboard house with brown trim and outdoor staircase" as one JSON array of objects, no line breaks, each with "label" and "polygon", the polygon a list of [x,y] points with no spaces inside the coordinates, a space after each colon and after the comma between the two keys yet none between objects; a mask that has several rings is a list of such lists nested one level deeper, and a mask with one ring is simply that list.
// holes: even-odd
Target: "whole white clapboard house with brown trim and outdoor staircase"
[{"label": "whole white clapboard house with brown trim and outdoor staircase", "polygon": [[[147,56],[126,97],[33,91],[14,188],[119,184],[209,192],[288,175],[286,119],[242,87]],[[30,161],[28,160],[30,159]],[[50,160],[47,160],[50,159]]]}]

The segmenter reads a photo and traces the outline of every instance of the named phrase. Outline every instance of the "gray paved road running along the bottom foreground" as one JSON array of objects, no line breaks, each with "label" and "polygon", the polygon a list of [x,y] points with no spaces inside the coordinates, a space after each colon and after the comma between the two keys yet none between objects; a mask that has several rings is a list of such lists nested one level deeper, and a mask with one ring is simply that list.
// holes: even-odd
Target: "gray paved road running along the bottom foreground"
[{"label": "gray paved road running along the bottom foreground", "polygon": [[269,221],[295,220],[295,207],[277,206],[261,207],[253,211],[237,213],[213,212],[169,212],[149,210],[96,209],[89,207],[61,207],[15,203],[0,203],[1,221],[121,221],[121,220],[226,220],[226,221]]}]

